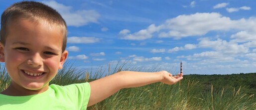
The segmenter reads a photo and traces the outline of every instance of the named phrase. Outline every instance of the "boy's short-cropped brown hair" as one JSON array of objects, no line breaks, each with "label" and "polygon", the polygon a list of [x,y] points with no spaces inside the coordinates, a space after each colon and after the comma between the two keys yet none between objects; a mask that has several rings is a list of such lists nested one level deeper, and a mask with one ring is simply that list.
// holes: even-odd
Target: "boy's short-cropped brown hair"
[{"label": "boy's short-cropped brown hair", "polygon": [[18,18],[30,18],[32,20],[45,20],[50,25],[59,27],[63,30],[62,52],[67,43],[67,25],[62,16],[55,9],[41,2],[21,1],[6,8],[1,15],[0,42],[4,45],[8,26],[11,21]]}]

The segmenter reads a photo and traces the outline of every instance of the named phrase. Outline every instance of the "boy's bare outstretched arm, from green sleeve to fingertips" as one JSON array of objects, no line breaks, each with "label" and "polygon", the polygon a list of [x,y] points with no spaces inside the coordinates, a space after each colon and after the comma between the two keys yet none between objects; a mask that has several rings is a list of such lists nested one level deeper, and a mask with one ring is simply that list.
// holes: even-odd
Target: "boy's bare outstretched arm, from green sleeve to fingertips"
[{"label": "boy's bare outstretched arm, from green sleeve to fingertips", "polygon": [[123,88],[144,86],[155,82],[172,85],[183,79],[183,74],[172,76],[166,71],[131,72],[121,71],[116,74],[90,82],[91,95],[88,106],[92,106]]}]

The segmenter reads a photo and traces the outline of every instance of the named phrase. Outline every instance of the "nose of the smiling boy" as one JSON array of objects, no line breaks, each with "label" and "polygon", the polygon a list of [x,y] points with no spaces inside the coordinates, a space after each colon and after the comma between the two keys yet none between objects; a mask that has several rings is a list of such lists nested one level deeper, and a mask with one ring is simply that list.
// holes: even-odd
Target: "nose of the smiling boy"
[{"label": "nose of the smiling boy", "polygon": [[34,54],[27,60],[27,64],[32,67],[38,67],[43,65],[42,58],[40,54]]}]

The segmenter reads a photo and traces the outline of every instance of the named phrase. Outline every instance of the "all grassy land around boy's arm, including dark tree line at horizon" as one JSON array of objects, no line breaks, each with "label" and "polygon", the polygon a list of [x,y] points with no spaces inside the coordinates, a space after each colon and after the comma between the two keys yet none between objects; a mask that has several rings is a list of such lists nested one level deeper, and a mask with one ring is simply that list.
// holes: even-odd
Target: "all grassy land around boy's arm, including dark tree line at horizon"
[{"label": "all grassy land around boy's arm, including dark tree line at horizon", "polygon": [[[90,82],[118,71],[136,71],[124,65],[96,73],[65,64],[50,84]],[[143,70],[143,69],[138,69]],[[152,70],[157,71],[157,70]],[[82,79],[81,79],[82,78]],[[10,84],[0,65],[0,91]],[[122,89],[87,110],[256,110],[256,73],[232,75],[185,75],[174,85],[154,83]]]}]

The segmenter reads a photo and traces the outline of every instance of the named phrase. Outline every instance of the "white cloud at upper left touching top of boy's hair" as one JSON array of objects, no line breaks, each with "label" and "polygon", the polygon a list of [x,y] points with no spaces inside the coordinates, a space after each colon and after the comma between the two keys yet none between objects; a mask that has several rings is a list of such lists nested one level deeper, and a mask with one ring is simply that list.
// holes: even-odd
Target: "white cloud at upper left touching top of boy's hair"
[{"label": "white cloud at upper left touching top of boy's hair", "polygon": [[44,0],[43,3],[56,9],[69,26],[82,26],[88,23],[98,23],[100,14],[95,10],[72,10],[72,6],[66,6],[54,0]]}]

